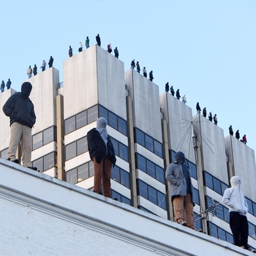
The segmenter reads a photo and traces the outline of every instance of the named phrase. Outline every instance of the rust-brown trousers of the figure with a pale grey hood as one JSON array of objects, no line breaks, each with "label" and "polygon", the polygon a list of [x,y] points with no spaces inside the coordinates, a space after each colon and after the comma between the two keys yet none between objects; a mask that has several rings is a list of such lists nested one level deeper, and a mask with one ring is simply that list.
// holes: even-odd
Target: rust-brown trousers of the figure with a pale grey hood
[{"label": "rust-brown trousers of the figure with a pale grey hood", "polygon": [[94,192],[102,192],[105,197],[111,197],[111,166],[108,158],[103,158],[100,163],[94,157]]}]

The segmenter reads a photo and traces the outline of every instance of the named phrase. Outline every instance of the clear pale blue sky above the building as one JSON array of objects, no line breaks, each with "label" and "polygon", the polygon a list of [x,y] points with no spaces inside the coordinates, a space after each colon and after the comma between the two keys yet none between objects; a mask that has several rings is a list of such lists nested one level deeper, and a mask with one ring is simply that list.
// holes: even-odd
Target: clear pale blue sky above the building
[{"label": "clear pale blue sky above the building", "polygon": [[50,56],[62,81],[69,45],[77,53],[80,41],[94,45],[99,34],[102,48],[118,47],[126,70],[139,61],[153,70],[159,93],[168,81],[193,114],[199,102],[225,136],[231,124],[255,150],[255,0],[15,0],[1,10],[0,80],[10,78],[17,91],[29,65]]}]

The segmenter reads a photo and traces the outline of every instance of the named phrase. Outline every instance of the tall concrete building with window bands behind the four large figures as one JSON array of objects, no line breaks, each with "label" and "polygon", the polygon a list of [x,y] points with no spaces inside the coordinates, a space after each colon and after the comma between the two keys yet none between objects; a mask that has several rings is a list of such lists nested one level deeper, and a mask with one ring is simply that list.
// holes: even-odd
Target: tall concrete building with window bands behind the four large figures
[{"label": "tall concrete building with window bands behind the four large figures", "polygon": [[[117,158],[113,198],[139,208],[136,213],[146,211],[164,222],[173,221],[165,169],[176,151],[184,151],[195,188],[195,226],[233,242],[222,195],[230,177],[241,176],[249,202],[249,245],[256,247],[256,167],[251,148],[232,136],[225,138],[221,127],[200,114],[193,116],[192,108],[171,94],[159,94],[155,83],[133,69],[124,72],[124,63],[98,45],[64,60],[63,74],[63,86],[54,67],[29,79],[37,115],[32,129],[34,166],[75,185],[72,188],[93,190],[86,134],[96,127],[99,116],[105,116]],[[0,94],[1,108],[13,93],[10,89]],[[0,154],[6,159],[9,118],[1,112],[0,121]]]}]

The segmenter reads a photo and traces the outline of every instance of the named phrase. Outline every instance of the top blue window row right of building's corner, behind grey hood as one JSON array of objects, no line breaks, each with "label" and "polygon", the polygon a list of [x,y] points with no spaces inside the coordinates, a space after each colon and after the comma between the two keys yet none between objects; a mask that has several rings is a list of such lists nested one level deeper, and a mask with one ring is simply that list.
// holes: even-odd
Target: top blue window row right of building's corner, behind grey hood
[{"label": "top blue window row right of building's corner, behind grey hood", "polygon": [[105,117],[110,127],[118,130],[118,132],[121,132],[124,135],[127,135],[127,121],[125,121],[123,118],[117,116],[115,113],[102,107],[101,105],[99,105],[99,116]]}]

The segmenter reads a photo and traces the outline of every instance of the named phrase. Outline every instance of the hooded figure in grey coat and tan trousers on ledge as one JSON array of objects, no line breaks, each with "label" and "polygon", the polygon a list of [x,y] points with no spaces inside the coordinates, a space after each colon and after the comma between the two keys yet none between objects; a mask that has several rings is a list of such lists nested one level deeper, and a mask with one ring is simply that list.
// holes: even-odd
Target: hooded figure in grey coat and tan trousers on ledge
[{"label": "hooded figure in grey coat and tan trousers on ledge", "polygon": [[184,153],[178,151],[175,161],[168,165],[165,177],[170,182],[170,196],[173,203],[175,221],[183,226],[194,227],[192,181]]}]

